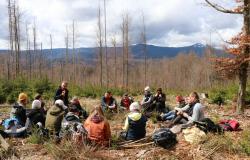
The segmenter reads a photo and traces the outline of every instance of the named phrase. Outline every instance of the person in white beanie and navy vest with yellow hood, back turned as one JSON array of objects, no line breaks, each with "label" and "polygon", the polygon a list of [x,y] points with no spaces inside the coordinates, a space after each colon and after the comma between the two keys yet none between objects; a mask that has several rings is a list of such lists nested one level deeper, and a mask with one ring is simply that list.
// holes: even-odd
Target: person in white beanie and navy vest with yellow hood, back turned
[{"label": "person in white beanie and navy vest with yellow hood, back turned", "polygon": [[138,140],[146,135],[147,118],[140,112],[141,106],[138,102],[133,102],[129,106],[130,113],[125,120],[122,138],[125,140]]}]

